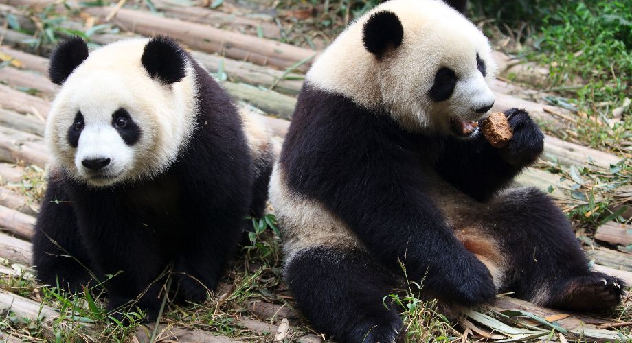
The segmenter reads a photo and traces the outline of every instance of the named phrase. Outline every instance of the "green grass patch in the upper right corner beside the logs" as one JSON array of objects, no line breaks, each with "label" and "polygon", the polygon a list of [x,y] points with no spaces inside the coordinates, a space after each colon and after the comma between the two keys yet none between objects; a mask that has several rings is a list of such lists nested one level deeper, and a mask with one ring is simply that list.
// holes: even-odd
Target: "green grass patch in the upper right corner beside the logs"
[{"label": "green grass patch in the upper right corner beside the logs", "polygon": [[[632,138],[632,0],[561,5],[530,55],[550,69],[551,88],[578,108],[579,137],[618,150]],[[627,100],[626,100],[627,99]]]}]

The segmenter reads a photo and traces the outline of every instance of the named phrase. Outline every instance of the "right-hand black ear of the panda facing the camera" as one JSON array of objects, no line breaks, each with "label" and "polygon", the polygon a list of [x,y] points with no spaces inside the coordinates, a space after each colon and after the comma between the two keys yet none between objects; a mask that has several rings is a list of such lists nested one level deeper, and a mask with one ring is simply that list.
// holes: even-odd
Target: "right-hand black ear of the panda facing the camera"
[{"label": "right-hand black ear of the panda facing the camera", "polygon": [[171,38],[157,36],[145,45],[141,62],[150,77],[166,84],[182,80],[186,76],[185,51]]}]

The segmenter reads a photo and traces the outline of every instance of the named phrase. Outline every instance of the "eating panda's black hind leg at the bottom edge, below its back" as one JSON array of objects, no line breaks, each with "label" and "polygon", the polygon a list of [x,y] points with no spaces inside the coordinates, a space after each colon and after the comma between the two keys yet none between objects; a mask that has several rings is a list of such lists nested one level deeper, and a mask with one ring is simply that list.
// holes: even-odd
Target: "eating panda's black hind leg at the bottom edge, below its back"
[{"label": "eating panda's black hind leg at the bottom edge, below its back", "polygon": [[396,278],[365,252],[313,247],[286,265],[286,282],[303,314],[337,342],[395,342],[402,321],[383,298]]}]

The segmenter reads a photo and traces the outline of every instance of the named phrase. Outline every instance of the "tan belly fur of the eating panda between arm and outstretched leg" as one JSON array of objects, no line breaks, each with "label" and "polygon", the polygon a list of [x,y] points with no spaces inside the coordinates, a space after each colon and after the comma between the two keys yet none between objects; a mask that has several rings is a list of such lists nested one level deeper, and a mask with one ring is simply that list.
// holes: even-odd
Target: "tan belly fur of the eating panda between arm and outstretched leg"
[{"label": "tan belly fur of the eating panda between arm and outstretched leg", "polygon": [[427,192],[455,237],[488,268],[496,289],[500,289],[507,261],[494,235],[497,228],[489,215],[491,204],[477,202],[438,175],[429,178]]}]

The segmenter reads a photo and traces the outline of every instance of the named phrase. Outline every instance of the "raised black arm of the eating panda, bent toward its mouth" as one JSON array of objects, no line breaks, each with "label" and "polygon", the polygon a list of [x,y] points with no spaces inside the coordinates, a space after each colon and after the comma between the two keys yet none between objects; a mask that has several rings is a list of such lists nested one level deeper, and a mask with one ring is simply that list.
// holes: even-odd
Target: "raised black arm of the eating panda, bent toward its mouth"
[{"label": "raised black arm of the eating panda, bent toward its mouth", "polygon": [[438,153],[439,173],[479,201],[507,187],[543,150],[543,134],[525,111],[512,109],[505,115],[514,131],[507,147],[492,147],[478,134],[469,140],[449,137]]}]

